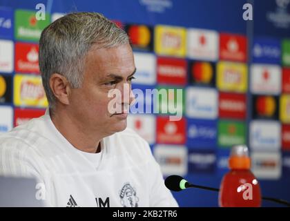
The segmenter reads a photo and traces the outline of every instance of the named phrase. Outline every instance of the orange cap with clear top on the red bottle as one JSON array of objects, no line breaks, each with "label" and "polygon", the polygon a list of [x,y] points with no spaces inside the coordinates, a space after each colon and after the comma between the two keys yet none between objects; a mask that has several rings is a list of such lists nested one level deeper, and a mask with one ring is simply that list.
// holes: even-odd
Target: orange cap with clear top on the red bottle
[{"label": "orange cap with clear top on the red bottle", "polygon": [[250,169],[251,160],[249,157],[248,147],[244,144],[234,145],[231,148],[229,157],[230,169]]}]

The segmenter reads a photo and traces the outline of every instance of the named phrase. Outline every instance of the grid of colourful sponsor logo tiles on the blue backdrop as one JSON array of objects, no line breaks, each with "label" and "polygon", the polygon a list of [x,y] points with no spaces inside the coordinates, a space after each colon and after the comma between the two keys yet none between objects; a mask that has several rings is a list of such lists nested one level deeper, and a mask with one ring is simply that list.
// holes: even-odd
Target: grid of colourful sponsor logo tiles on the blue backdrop
[{"label": "grid of colourful sponsor logo tiles on the blue backdrop", "polygon": [[[52,21],[60,16],[52,14]],[[34,11],[1,9],[0,19],[0,133],[5,133],[43,115],[48,106],[38,41],[50,15],[37,21]],[[281,153],[290,150],[290,39],[254,38],[249,48],[247,37],[237,33],[116,23],[135,53],[133,88],[183,91],[182,101],[175,102],[183,108],[180,121],[160,112],[128,117],[164,175],[224,173],[229,148],[246,143],[258,178],[281,177]]]}]

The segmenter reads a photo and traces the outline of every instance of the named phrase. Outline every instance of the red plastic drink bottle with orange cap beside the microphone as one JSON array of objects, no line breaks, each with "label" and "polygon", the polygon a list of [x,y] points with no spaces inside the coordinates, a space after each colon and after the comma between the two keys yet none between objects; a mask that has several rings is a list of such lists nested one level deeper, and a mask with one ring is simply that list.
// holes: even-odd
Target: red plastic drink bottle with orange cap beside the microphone
[{"label": "red plastic drink bottle with orange cap beside the microphone", "polygon": [[222,207],[259,207],[262,196],[260,184],[251,173],[251,160],[245,145],[231,148],[229,173],[220,184],[219,204]]}]

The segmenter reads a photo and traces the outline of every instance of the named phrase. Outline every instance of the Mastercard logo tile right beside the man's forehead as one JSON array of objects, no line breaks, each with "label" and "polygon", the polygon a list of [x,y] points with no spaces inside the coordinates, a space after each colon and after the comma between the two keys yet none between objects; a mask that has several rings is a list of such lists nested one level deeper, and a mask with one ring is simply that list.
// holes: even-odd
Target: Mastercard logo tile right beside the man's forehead
[{"label": "Mastercard logo tile right beside the man's forehead", "polygon": [[146,26],[130,26],[128,35],[133,45],[145,48],[150,44],[151,32]]}]

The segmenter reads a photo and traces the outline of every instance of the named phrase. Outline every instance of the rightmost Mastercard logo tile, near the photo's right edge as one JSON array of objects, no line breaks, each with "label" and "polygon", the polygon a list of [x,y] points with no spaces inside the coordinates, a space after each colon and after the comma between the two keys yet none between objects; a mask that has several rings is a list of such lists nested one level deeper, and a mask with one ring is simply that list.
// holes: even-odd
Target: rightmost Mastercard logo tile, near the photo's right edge
[{"label": "rightmost Mastercard logo tile, near the photo's right edge", "polygon": [[255,103],[255,109],[258,115],[272,117],[276,111],[275,99],[271,96],[258,97]]}]

